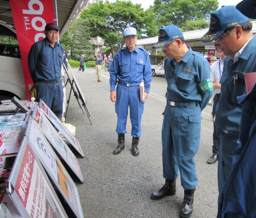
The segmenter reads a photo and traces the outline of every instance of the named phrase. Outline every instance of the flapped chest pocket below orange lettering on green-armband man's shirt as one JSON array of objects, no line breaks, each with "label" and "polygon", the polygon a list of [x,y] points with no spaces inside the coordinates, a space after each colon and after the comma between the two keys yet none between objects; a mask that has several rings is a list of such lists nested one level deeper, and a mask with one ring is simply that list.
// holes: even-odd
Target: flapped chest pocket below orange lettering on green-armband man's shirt
[{"label": "flapped chest pocket below orange lettering on green-armband man's shirt", "polygon": [[194,74],[180,72],[177,78],[177,87],[181,92],[189,94],[196,84],[194,82]]}]

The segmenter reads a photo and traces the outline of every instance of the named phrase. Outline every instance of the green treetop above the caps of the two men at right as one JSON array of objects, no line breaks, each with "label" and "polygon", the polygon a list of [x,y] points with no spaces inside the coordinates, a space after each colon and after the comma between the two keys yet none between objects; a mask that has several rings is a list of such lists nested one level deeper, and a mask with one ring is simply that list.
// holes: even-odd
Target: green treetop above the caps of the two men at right
[{"label": "green treetop above the caps of the two men at right", "polygon": [[174,24],[183,27],[187,20],[210,19],[218,9],[218,0],[155,0],[158,27]]}]

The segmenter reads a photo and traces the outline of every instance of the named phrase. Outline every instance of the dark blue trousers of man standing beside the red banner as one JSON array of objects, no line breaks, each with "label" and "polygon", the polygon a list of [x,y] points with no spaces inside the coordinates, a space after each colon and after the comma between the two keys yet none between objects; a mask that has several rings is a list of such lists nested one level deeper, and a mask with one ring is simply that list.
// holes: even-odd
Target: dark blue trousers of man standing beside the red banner
[{"label": "dark blue trousers of man standing beside the red banner", "polygon": [[37,101],[41,98],[53,113],[60,118],[63,113],[63,87],[62,82],[42,83],[36,85]]}]

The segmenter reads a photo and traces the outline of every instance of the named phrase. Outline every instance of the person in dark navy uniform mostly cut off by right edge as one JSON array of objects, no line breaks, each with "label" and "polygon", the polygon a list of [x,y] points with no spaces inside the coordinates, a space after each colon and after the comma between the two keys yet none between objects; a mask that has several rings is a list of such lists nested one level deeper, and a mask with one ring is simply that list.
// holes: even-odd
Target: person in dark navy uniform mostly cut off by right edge
[{"label": "person in dark navy uniform mostly cut off by right edge", "polygon": [[[256,19],[255,0],[241,1],[236,8],[245,16]],[[249,94],[239,96],[237,99],[238,103],[243,104],[240,144],[235,150],[233,168],[222,188],[218,203],[218,218],[256,217],[256,84]]]}]

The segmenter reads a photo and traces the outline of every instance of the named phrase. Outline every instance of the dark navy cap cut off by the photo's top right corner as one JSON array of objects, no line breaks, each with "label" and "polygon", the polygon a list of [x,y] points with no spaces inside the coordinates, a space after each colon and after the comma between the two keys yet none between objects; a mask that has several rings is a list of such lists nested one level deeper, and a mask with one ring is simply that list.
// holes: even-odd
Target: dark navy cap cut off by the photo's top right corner
[{"label": "dark navy cap cut off by the photo's top right corner", "polygon": [[256,0],[243,0],[236,9],[248,18],[256,19]]}]

